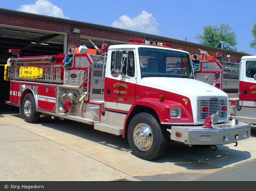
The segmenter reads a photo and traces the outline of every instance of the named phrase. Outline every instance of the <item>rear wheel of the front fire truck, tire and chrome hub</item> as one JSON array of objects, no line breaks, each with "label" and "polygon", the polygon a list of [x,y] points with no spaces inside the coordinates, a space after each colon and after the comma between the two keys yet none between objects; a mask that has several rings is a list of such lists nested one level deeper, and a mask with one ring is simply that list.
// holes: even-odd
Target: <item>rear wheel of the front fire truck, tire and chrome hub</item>
[{"label": "rear wheel of the front fire truck, tire and chrome hub", "polygon": [[27,93],[22,101],[22,116],[28,123],[39,121],[40,113],[36,111],[35,98],[32,93]]}]

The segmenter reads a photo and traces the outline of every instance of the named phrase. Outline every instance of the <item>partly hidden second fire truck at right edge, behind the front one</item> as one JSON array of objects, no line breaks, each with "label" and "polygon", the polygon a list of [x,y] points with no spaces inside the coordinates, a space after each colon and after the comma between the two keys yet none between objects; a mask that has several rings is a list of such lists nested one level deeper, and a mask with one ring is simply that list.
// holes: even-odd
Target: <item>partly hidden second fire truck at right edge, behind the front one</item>
[{"label": "partly hidden second fire truck at right edge, behind the front one", "polygon": [[240,63],[192,57],[195,79],[228,93],[230,118],[256,125],[256,56],[243,56]]}]

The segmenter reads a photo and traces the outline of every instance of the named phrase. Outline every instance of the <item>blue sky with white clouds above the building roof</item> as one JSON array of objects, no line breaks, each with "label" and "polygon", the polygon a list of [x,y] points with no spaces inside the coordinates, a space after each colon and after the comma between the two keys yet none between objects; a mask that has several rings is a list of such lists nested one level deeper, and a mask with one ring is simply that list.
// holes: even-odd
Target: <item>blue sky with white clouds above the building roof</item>
[{"label": "blue sky with white clouds above the building roof", "polygon": [[228,24],[236,33],[237,51],[256,55],[249,46],[254,40],[255,0],[11,0],[0,7],[177,40],[187,37],[198,44],[195,37],[205,26]]}]

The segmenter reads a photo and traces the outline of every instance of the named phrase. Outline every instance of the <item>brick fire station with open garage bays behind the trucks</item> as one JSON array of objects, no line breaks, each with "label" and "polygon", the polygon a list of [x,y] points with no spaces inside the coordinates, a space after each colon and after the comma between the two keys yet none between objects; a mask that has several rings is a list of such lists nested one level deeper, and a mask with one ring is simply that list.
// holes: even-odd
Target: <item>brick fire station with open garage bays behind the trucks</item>
[{"label": "brick fire station with open garage bays behind the trucks", "polygon": [[[7,59],[12,56],[8,53],[8,49],[21,49],[20,56],[54,55],[67,53],[70,47],[75,48],[80,45],[93,49],[89,39],[101,47],[102,41],[119,44],[128,43],[129,39],[134,38],[169,43],[171,48],[181,48],[191,55],[200,55],[200,49],[212,56],[215,56],[217,52],[223,52],[225,55],[230,54],[230,62],[239,62],[245,55],[163,36],[0,8],[1,65],[6,64]],[[224,57],[222,60],[228,61],[228,58]],[[4,74],[3,66],[0,72]],[[2,109],[0,111],[6,111],[9,108],[4,101],[9,100],[9,82],[3,81],[2,76],[0,83],[1,91],[6,92],[1,95],[0,108]]]}]

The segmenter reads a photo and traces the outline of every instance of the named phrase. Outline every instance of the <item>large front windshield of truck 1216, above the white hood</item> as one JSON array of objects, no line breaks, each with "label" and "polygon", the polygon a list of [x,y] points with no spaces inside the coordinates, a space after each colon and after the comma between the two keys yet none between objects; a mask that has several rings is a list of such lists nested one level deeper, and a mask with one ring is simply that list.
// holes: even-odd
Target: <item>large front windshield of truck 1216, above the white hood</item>
[{"label": "large front windshield of truck 1216, above the white hood", "polygon": [[189,54],[163,49],[139,48],[141,78],[194,78]]}]

